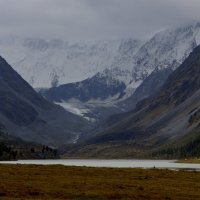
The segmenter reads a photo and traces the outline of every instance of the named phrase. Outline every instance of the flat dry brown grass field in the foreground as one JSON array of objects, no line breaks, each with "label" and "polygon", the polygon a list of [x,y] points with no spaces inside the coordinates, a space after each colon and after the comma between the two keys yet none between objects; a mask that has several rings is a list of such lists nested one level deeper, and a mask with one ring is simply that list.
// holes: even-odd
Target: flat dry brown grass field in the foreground
[{"label": "flat dry brown grass field in the foreground", "polygon": [[200,172],[0,165],[0,199],[200,199]]}]

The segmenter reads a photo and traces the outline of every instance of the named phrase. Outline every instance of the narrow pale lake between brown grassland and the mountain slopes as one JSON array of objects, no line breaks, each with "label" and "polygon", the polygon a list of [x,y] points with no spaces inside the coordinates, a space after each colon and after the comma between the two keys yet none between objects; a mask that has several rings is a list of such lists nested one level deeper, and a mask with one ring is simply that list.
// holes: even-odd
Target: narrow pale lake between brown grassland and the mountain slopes
[{"label": "narrow pale lake between brown grassland and the mountain slopes", "polygon": [[0,161],[0,164],[65,165],[113,168],[166,168],[200,170],[200,164],[176,163],[175,160],[137,159],[58,159],[58,160],[18,160]]}]

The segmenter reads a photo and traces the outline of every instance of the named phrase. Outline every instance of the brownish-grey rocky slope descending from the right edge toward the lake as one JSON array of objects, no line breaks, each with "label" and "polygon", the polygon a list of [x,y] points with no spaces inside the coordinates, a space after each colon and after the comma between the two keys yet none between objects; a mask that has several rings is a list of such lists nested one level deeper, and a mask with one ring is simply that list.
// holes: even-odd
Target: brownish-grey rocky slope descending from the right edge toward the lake
[{"label": "brownish-grey rocky slope descending from the right edge toward the lake", "polygon": [[141,101],[134,111],[111,117],[107,128],[76,152],[87,156],[131,157],[138,150],[151,152],[195,140],[200,124],[199,73],[200,46],[169,76],[156,95]]}]

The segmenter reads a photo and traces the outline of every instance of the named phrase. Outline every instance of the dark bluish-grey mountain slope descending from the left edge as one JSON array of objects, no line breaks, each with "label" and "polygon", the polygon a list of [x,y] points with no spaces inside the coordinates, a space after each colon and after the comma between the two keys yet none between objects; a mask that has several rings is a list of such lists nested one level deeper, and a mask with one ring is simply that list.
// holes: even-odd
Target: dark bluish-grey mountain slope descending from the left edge
[{"label": "dark bluish-grey mountain slope descending from the left edge", "polygon": [[88,122],[37,94],[0,57],[0,126],[25,140],[45,144],[73,143]]}]

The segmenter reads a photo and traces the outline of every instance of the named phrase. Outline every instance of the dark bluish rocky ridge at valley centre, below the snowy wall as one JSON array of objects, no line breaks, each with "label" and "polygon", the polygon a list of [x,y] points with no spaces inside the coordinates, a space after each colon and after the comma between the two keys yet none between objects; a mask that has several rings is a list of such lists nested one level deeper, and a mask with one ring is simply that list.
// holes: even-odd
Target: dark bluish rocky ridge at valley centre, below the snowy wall
[{"label": "dark bluish rocky ridge at valley centre, below the snowy wall", "polygon": [[81,82],[69,83],[58,87],[50,88],[49,90],[41,90],[40,93],[51,101],[59,102],[61,100],[68,101],[72,98],[82,102],[87,102],[91,99],[106,100],[109,96],[118,94],[123,96],[126,85],[116,79],[103,76],[97,73],[94,77]]}]

